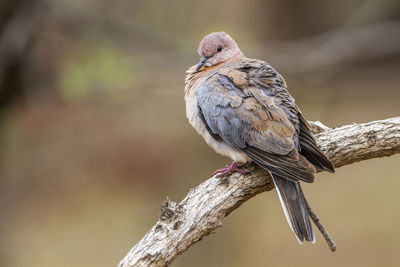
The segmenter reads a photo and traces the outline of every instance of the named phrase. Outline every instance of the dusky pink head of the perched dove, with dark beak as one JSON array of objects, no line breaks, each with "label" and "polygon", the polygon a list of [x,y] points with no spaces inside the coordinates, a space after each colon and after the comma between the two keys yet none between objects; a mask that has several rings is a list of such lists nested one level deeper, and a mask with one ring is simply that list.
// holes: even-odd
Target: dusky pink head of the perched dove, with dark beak
[{"label": "dusky pink head of the perched dove, with dark beak", "polygon": [[196,71],[199,71],[202,67],[209,68],[233,57],[243,55],[236,42],[225,32],[208,34],[201,40],[197,52],[201,59]]}]

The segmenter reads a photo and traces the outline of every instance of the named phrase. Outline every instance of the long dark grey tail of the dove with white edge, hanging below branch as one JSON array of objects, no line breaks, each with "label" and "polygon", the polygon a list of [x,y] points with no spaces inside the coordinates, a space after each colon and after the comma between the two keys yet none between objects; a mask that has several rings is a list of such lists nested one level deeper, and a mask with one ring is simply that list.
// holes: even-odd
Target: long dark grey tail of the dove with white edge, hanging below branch
[{"label": "long dark grey tail of the dove with white edge, hanging below branch", "polygon": [[315,242],[315,233],[304,201],[303,191],[299,182],[290,181],[271,174],[281,200],[283,210],[290,228],[297,240]]}]

